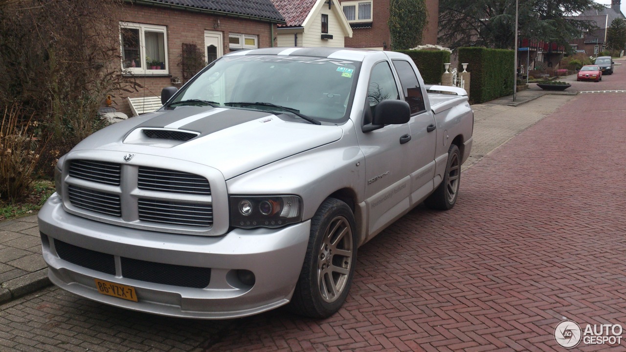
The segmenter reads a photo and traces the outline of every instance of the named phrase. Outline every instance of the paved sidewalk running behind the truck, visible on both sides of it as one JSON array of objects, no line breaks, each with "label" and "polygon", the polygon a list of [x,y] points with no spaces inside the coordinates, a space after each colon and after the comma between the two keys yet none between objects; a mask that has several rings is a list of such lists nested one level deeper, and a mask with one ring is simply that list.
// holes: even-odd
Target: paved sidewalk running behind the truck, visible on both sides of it
[{"label": "paved sidewalk running behind the truck, visible on both sides of it", "polygon": [[[576,93],[567,92],[566,95]],[[513,96],[505,96],[488,103],[473,105],[475,142],[463,170],[479,162],[485,155],[539,122],[572,98],[551,95],[538,100],[545,95],[545,91],[536,87],[518,93],[516,102],[512,101]],[[0,282],[0,303],[50,284],[48,269],[41,257],[37,215],[0,222]]]}]

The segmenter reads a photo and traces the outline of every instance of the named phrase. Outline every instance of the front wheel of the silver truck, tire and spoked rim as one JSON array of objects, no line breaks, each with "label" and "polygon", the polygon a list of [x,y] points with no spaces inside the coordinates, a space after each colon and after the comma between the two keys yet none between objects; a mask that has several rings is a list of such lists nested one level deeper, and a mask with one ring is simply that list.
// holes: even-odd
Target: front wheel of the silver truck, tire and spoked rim
[{"label": "front wheel of the silver truck, tire and spoked rim", "polygon": [[356,265],[356,223],[350,207],[328,198],[311,219],[309,246],[288,308],[310,318],[327,318],[341,308]]}]

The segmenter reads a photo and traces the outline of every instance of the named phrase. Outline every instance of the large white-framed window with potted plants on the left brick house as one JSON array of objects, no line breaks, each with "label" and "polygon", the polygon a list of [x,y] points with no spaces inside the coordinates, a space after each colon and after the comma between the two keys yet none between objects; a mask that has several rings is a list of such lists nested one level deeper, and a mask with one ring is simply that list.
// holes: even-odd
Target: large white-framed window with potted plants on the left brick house
[{"label": "large white-framed window with potted plants on the left brick house", "polygon": [[120,43],[126,73],[168,73],[167,27],[121,22]]}]

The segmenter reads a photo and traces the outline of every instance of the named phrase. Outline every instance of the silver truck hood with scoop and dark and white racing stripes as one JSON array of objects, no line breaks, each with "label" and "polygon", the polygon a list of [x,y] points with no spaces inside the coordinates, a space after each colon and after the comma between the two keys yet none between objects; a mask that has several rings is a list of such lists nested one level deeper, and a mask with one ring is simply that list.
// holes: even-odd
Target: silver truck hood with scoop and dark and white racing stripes
[{"label": "silver truck hood with scoop and dark and white racing stripes", "polygon": [[[193,138],[182,140],[180,135],[182,139]],[[186,160],[217,168],[228,180],[290,155],[335,142],[341,136],[341,127],[313,125],[289,115],[180,106],[115,123],[78,143],[73,150],[115,150]]]}]

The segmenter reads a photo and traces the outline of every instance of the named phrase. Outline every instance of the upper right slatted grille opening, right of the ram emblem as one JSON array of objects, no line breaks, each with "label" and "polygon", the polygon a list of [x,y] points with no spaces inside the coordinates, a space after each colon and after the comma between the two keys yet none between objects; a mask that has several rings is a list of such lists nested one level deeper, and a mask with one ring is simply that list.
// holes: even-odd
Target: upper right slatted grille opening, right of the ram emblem
[{"label": "upper right slatted grille opening, right of the ram emblem", "polygon": [[211,195],[211,187],[204,177],[165,168],[140,167],[138,187],[159,192]]}]

